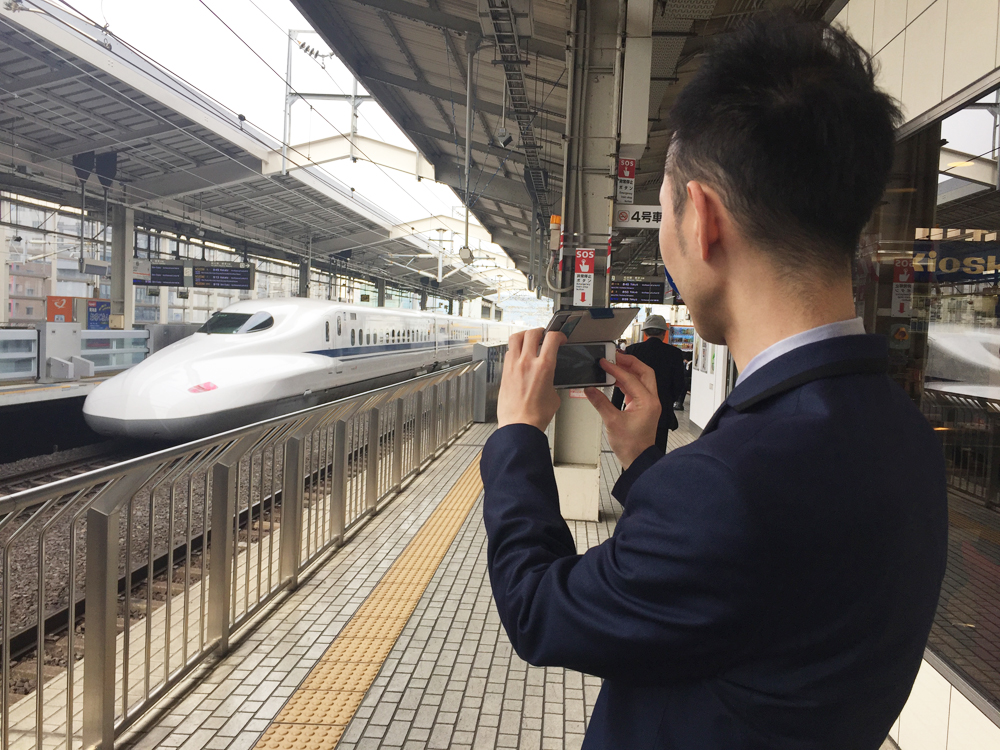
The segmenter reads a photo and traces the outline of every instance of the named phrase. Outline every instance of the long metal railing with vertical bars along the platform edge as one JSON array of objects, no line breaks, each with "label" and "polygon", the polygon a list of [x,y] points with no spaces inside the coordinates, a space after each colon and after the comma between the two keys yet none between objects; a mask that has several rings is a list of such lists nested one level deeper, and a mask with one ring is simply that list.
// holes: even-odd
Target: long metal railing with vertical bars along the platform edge
[{"label": "long metal railing with vertical bars along the platform edge", "polygon": [[476,367],[0,499],[3,750],[112,748],[471,424]]}]

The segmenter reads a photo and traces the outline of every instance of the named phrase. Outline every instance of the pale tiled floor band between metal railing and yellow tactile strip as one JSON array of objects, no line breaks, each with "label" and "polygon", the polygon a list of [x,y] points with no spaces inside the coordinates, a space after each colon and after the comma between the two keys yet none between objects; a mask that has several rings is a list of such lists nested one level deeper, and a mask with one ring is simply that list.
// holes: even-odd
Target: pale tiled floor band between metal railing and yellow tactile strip
[{"label": "pale tiled floor band between metal railing and yellow tactile strip", "polygon": [[[473,425],[179,702],[121,748],[249,750],[475,459],[494,425]],[[347,644],[345,644],[346,646]],[[332,733],[315,747],[329,745]],[[294,747],[313,747],[298,742]]]}]

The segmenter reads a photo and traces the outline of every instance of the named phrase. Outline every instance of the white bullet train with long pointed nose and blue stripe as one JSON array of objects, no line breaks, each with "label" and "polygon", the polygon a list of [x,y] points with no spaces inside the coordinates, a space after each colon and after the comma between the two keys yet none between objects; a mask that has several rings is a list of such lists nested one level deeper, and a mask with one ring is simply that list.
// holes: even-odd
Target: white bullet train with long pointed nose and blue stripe
[{"label": "white bullet train with long pointed nose and blue stripe", "polygon": [[309,299],[247,300],[105,381],[83,406],[104,435],[194,439],[468,362],[511,327]]}]

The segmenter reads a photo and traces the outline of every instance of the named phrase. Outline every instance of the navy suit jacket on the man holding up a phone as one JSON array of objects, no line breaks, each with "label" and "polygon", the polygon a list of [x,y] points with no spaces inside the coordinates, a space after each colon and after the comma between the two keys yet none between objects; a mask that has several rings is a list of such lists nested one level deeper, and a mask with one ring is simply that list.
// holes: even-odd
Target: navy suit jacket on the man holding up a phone
[{"label": "navy suit jacket on the man holding up a phone", "polygon": [[621,475],[582,555],[545,435],[483,451],[488,565],[528,663],[604,678],[584,748],[876,750],[913,684],[944,573],[942,450],[880,336],[795,349],[702,436]]}]

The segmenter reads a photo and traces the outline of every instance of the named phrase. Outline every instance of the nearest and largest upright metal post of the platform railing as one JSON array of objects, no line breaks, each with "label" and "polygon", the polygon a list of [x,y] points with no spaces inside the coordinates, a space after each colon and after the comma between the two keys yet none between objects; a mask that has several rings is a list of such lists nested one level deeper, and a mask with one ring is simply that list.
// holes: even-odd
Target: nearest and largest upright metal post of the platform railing
[{"label": "nearest and largest upright metal post of the platform railing", "polygon": [[[95,505],[87,511],[83,746],[102,750],[113,750],[115,746],[119,517],[118,508],[107,510]],[[127,607],[127,595],[125,601]],[[128,627],[128,621],[126,611],[125,627]]]}]

